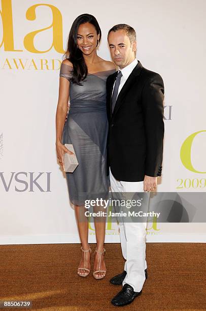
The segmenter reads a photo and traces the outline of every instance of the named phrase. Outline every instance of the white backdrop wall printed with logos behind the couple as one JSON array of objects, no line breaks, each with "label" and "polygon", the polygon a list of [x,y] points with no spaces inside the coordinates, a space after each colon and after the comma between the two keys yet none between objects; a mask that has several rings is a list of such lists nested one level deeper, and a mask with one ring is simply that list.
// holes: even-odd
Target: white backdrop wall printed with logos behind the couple
[{"label": "white backdrop wall printed with logos behind the couple", "polygon": [[[43,3],[1,1],[0,244],[79,242],[56,160],[55,113],[61,57],[72,22],[82,13],[93,14],[102,29],[99,56],[110,59],[108,30],[128,23],[137,33],[137,58],[164,80],[158,191],[205,192],[205,1]],[[147,233],[149,242],[206,241],[203,223],[148,224]],[[89,240],[95,241],[93,225]],[[106,242],[116,241],[117,226],[108,225]]]}]

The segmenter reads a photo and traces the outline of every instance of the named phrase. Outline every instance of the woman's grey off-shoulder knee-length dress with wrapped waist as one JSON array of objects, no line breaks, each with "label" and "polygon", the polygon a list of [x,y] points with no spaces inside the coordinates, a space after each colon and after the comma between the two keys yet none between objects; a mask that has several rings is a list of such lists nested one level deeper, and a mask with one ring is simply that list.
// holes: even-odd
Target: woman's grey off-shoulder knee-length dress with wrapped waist
[{"label": "woman's grey off-shoulder knee-length dress with wrapped waist", "polygon": [[[78,167],[66,172],[70,201],[79,206],[85,200],[106,198],[109,177],[106,172],[108,120],[106,80],[115,70],[87,75],[82,85],[70,82],[70,108],[63,127],[61,143],[73,144]],[[61,64],[60,77],[70,81],[73,68]]]}]

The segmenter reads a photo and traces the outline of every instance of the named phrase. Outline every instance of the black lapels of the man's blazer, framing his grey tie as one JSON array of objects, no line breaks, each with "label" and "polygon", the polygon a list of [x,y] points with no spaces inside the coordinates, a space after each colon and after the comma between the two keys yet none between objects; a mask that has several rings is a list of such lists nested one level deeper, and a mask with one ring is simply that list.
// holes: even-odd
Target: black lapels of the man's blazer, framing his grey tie
[{"label": "black lapels of the man's blazer, framing his grey tie", "polygon": [[[140,63],[140,60],[138,60],[138,64],[134,67],[134,69],[132,70],[132,72],[130,73],[130,75],[128,76],[126,82],[124,83],[122,89],[119,92],[119,95],[117,97],[117,101],[115,104],[115,108],[112,114],[112,117],[114,117],[115,113],[117,112],[117,110],[119,109],[119,107],[122,105],[123,103],[123,99],[125,97],[125,95],[127,94],[127,92],[129,91],[129,88],[131,87],[134,79],[139,76],[139,74],[141,73],[143,66]],[[116,78],[116,75],[115,75]],[[113,90],[113,85],[114,82],[112,84],[112,90]],[[112,90],[111,90],[111,94],[110,94],[110,106],[111,106],[111,113],[112,113]]]}]

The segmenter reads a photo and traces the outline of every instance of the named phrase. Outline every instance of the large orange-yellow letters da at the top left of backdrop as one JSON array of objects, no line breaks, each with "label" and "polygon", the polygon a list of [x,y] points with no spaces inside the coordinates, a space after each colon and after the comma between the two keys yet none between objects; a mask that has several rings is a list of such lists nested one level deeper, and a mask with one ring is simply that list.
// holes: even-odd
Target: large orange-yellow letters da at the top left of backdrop
[{"label": "large orange-yellow letters da at the top left of backdrop", "polygon": [[[50,8],[53,16],[53,21],[48,27],[35,30],[31,33],[28,33],[23,40],[24,47],[27,51],[31,53],[46,53],[54,47],[58,53],[64,53],[63,50],[63,32],[62,32],[62,16],[61,12],[53,5],[50,4],[35,4],[27,9],[26,19],[35,20],[36,19],[36,8],[40,6],[46,6]],[[4,43],[5,51],[12,52],[22,52],[23,50],[18,50],[14,48],[14,32],[13,32],[13,16],[12,16],[12,0],[2,0],[2,11],[0,11],[2,16],[3,24],[3,40],[0,44],[2,47]],[[34,40],[37,34],[44,32],[47,29],[52,28],[53,32],[53,42],[50,48],[45,51],[39,51],[34,45]]]}]

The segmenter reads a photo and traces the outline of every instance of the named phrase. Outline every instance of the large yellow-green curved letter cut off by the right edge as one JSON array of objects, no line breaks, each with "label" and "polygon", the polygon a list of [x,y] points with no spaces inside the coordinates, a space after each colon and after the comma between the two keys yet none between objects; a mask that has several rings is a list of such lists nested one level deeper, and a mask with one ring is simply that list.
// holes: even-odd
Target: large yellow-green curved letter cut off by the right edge
[{"label": "large yellow-green curved letter cut off by the right edge", "polygon": [[206,132],[206,130],[198,131],[188,136],[183,142],[182,147],[180,149],[180,159],[182,161],[182,164],[186,167],[186,169],[190,170],[191,172],[200,173],[200,174],[205,174],[206,172],[197,171],[193,167],[192,162],[191,162],[191,148],[192,148],[192,142],[195,136],[203,132]]}]

